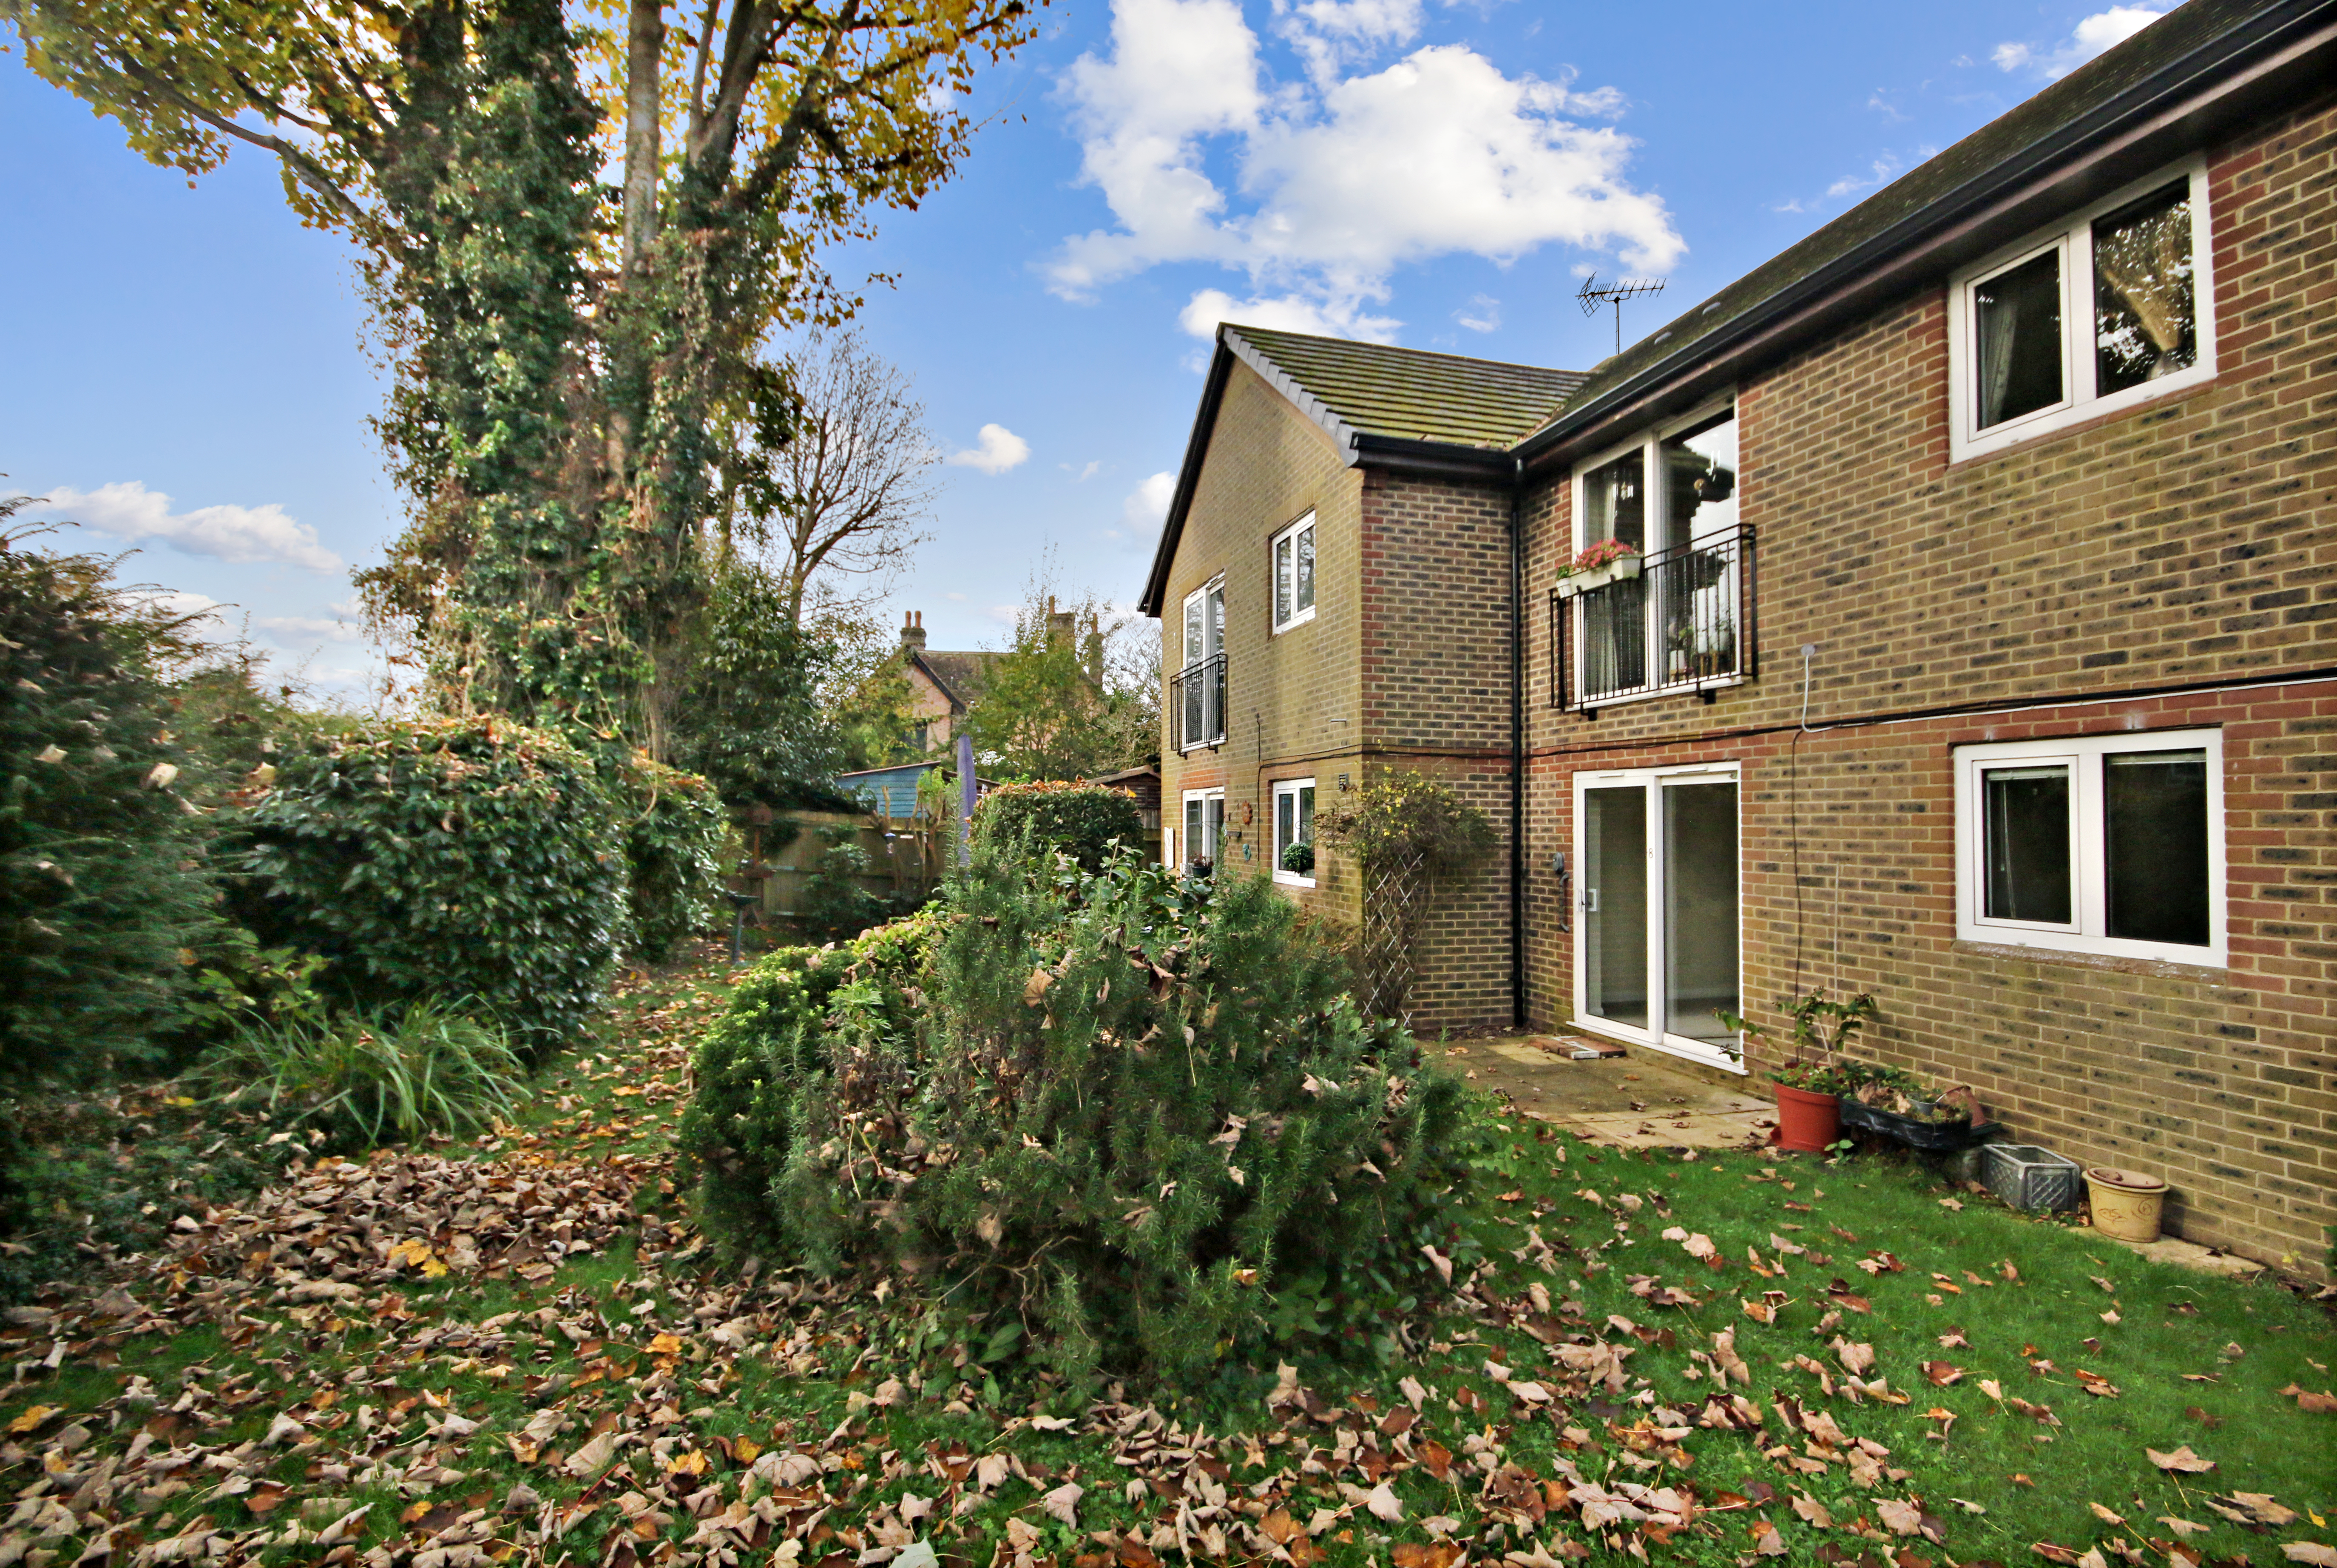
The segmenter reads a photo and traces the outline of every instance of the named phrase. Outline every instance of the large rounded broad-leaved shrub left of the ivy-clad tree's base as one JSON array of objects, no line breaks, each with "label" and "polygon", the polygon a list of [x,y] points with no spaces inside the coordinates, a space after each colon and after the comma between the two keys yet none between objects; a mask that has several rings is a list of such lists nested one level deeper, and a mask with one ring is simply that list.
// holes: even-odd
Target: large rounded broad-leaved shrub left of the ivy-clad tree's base
[{"label": "large rounded broad-leaved shrub left of the ivy-clad tree's base", "polygon": [[491,717],[311,741],[278,755],[243,837],[248,923],[323,953],[360,1005],[477,998],[528,1052],[601,1005],[624,827],[568,741]]}]

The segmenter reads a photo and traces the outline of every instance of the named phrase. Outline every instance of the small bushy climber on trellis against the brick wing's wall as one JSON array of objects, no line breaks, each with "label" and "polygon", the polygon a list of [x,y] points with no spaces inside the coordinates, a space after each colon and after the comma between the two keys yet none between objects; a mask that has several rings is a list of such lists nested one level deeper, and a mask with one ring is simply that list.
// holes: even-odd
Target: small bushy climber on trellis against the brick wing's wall
[{"label": "small bushy climber on trellis against the brick wing's wall", "polygon": [[1316,806],[1316,837],[1362,872],[1362,1005],[1395,1017],[1412,993],[1412,951],[1437,886],[1493,848],[1493,827],[1442,778],[1388,769]]}]

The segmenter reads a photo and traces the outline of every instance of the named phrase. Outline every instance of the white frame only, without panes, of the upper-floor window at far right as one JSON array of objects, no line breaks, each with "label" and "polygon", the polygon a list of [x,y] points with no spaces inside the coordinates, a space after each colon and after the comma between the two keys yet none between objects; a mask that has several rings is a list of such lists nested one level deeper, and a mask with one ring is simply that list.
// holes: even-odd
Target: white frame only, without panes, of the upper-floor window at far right
[{"label": "white frame only, without panes, of the upper-floor window at far right", "polygon": [[[2190,369],[2180,369],[2157,381],[2129,386],[2106,397],[2094,395],[2099,369],[2094,355],[2094,220],[2113,213],[2138,196],[2190,180],[2192,210],[2192,311],[2197,318],[2199,358]],[[2024,236],[1986,259],[1965,266],[1947,280],[1947,432],[1949,460],[1963,463],[1991,451],[2003,451],[2019,442],[2064,430],[2068,425],[2117,414],[2136,404],[2157,402],[2185,393],[2215,379],[2215,273],[2213,273],[2213,215],[2208,213],[2206,159],[2192,157],[2169,164],[2157,173],[2136,180],[2115,194],[2071,213],[2050,229]],[[1972,308],[1972,290],[1989,278],[2033,262],[2047,250],[2061,252],[2061,402],[2007,418],[2000,425],[1979,428],[1979,393],[1975,362],[1979,360],[1979,315]]]}]

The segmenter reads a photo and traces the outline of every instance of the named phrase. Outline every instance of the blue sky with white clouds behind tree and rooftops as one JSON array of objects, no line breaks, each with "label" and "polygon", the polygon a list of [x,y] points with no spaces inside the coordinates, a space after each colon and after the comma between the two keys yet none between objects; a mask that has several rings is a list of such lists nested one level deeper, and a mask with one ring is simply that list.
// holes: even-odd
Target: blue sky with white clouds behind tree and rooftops
[{"label": "blue sky with white clouds behind tree and rooftops", "polygon": [[[1049,554],[1133,601],[1218,318],[1589,367],[1582,271],[1666,278],[1652,332],[2152,9],[1059,0],[958,180],[832,257],[900,278],[862,327],[956,458],[893,610],[993,645]],[[189,189],[14,56],[0,150],[0,488],[351,682],[400,498],[346,245],[264,157]]]}]

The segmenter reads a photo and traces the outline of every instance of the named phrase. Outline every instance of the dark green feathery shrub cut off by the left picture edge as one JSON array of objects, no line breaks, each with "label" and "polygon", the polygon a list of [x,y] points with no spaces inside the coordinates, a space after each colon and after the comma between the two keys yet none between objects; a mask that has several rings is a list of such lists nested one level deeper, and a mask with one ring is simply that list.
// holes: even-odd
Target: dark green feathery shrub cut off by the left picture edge
[{"label": "dark green feathery shrub cut off by the left picture edge", "polygon": [[194,643],[112,561],[23,540],[0,533],[0,1087],[152,1061],[220,923],[166,682]]}]

